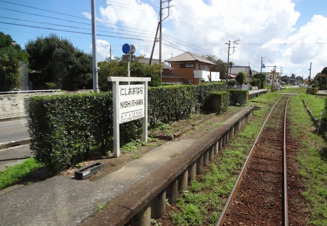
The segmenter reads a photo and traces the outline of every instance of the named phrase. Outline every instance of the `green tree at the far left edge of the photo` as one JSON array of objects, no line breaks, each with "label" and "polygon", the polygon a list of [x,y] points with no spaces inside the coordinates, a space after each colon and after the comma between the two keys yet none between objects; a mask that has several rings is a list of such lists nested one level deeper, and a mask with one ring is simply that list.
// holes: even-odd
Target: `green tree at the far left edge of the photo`
[{"label": "green tree at the far left edge of the photo", "polygon": [[10,35],[0,32],[0,91],[20,88],[27,66],[27,52]]}]

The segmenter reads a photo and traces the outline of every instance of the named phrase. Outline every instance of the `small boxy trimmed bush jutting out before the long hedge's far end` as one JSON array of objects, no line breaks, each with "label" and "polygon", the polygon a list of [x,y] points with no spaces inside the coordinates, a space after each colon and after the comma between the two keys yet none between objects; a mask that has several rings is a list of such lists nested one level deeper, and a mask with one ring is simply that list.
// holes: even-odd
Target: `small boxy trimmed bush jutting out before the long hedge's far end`
[{"label": "small boxy trimmed bush jutting out before the long hedge's far end", "polygon": [[207,100],[207,110],[223,114],[227,111],[229,105],[229,92],[227,91],[213,91],[209,93]]}]

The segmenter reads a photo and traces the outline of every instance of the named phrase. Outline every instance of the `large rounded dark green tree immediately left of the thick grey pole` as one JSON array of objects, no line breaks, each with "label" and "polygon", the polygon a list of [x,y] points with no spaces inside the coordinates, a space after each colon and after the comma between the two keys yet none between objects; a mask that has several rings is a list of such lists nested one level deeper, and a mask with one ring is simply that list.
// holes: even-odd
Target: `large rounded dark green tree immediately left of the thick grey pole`
[{"label": "large rounded dark green tree immediately left of the thick grey pole", "polygon": [[29,40],[25,49],[30,55],[32,76],[43,83],[54,82],[66,90],[92,87],[92,56],[75,48],[69,40],[50,34]]}]

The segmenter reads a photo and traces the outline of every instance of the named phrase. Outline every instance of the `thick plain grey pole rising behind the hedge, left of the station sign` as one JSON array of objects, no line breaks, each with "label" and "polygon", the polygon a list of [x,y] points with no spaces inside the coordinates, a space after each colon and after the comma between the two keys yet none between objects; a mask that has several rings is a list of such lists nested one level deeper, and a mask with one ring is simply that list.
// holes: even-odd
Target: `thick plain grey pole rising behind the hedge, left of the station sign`
[{"label": "thick plain grey pole rising behind the hedge, left of the station sign", "polygon": [[91,0],[92,12],[92,58],[93,58],[93,91],[99,92],[98,65],[97,65],[97,31],[96,31],[96,4]]}]

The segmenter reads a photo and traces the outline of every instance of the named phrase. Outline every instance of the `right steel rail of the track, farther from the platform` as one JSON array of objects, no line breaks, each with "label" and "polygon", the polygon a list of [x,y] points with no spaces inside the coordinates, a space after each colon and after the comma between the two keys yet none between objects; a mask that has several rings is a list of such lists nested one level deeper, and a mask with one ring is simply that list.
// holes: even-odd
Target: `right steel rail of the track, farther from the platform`
[{"label": "right steel rail of the track, farther from the platform", "polygon": [[[292,94],[291,94],[292,95]],[[283,143],[283,193],[284,193],[284,200],[283,200],[283,218],[284,226],[288,226],[288,203],[287,203],[287,169],[286,169],[286,112],[287,112],[287,104],[288,100],[290,99],[291,95],[288,97],[285,106],[285,113],[284,113],[284,143]]]}]

